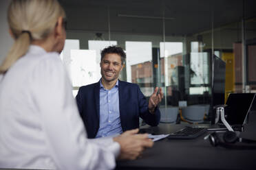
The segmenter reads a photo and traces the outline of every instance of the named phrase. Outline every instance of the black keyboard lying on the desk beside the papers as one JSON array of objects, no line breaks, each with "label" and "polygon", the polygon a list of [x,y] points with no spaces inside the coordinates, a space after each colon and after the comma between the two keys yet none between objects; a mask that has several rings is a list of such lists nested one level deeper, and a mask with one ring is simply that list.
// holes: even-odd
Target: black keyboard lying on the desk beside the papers
[{"label": "black keyboard lying on the desk beside the papers", "polygon": [[184,129],[179,130],[173,134],[170,134],[167,138],[173,139],[192,139],[197,138],[198,136],[204,134],[207,129],[204,127],[185,127]]}]

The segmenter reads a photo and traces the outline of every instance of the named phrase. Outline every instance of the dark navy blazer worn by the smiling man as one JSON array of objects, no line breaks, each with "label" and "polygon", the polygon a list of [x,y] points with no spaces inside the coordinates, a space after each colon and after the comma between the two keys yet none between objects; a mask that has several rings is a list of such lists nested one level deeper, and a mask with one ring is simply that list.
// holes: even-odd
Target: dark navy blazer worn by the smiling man
[{"label": "dark navy blazer worn by the smiling man", "polygon": [[[151,114],[148,102],[137,84],[118,81],[119,110],[122,131],[139,127],[139,117],[147,124],[156,126],[160,121],[160,111]],[[100,82],[81,86],[76,95],[78,110],[85,124],[88,138],[95,138],[100,119]]]}]

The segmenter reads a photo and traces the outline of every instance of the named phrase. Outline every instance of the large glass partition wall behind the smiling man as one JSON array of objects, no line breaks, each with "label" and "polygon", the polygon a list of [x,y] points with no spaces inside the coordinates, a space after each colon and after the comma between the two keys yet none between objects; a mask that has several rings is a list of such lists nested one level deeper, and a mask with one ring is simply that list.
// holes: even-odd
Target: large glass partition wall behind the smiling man
[{"label": "large glass partition wall behind the smiling man", "polygon": [[100,50],[109,45],[127,53],[120,80],[138,84],[147,98],[162,87],[160,108],[165,110],[205,106],[204,123],[211,117],[213,55],[226,62],[225,99],[256,91],[253,0],[61,3],[67,11],[67,39],[80,43],[78,49],[67,43],[63,51],[72,61],[74,95],[79,86],[98,82]]}]

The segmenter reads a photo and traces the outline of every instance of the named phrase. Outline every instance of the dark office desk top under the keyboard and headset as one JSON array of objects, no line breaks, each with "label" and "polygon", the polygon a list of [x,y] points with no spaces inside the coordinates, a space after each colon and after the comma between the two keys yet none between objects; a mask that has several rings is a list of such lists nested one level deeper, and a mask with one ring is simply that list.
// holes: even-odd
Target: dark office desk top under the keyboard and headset
[{"label": "dark office desk top under the keyboard and headset", "polygon": [[[160,123],[158,127],[144,128],[154,134],[167,134],[180,127]],[[206,134],[191,140],[164,138],[156,141],[152,148],[145,150],[142,158],[117,161],[116,169],[256,169],[256,150],[212,147],[204,140]]]}]

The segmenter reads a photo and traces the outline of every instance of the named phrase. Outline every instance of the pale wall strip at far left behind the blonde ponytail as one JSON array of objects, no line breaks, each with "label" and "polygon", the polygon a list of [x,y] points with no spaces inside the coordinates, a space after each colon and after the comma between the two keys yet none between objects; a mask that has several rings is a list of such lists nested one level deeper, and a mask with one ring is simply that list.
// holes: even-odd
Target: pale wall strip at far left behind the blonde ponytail
[{"label": "pale wall strip at far left behind the blonde ponytail", "polygon": [[0,1],[0,63],[6,58],[6,55],[12,47],[13,40],[8,33],[8,23],[7,23],[7,9],[10,0]]}]

